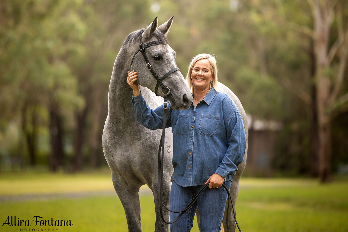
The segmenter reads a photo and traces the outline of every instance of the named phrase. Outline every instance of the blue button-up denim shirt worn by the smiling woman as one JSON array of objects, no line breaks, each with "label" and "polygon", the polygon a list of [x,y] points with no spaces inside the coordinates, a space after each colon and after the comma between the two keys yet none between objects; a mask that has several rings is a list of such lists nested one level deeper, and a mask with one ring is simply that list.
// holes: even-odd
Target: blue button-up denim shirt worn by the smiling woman
[{"label": "blue button-up denim shirt worn by the smiling woman", "polygon": [[[142,94],[133,96],[136,120],[149,129],[163,127],[163,106],[152,110]],[[168,102],[169,106],[170,103]],[[231,98],[212,88],[196,109],[173,110],[173,181],[186,187],[204,185],[214,173],[232,180],[242,163],[246,137],[242,117]]]}]

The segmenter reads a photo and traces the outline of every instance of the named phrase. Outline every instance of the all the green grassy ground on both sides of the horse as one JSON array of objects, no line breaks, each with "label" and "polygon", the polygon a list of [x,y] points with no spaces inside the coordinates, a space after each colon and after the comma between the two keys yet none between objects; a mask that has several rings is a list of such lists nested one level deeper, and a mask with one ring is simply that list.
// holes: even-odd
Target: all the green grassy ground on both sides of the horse
[{"label": "all the green grassy ground on both sides of the horse", "polygon": [[[5,200],[0,202],[0,222],[7,216],[28,219],[71,220],[72,226],[8,226],[0,231],[35,229],[64,232],[128,231],[120,200],[112,194],[109,171],[76,175],[25,173],[0,174],[0,199],[26,194],[58,194],[54,199]],[[66,198],[63,193],[110,192],[111,195],[85,195]],[[141,195],[141,222],[144,232],[155,227],[151,195]],[[348,231],[348,178],[330,184],[312,179],[242,178],[236,206],[237,220],[244,232],[321,232]],[[37,230],[39,229],[39,230]],[[56,231],[56,230],[54,230]],[[192,231],[197,232],[195,223]]]}]

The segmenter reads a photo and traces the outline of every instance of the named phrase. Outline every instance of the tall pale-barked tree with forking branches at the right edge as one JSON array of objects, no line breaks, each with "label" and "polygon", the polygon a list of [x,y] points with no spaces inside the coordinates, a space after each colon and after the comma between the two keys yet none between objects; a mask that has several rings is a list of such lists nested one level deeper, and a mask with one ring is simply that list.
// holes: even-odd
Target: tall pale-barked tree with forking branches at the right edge
[{"label": "tall pale-barked tree with forking branches at the right edge", "polygon": [[[319,178],[327,182],[331,175],[331,121],[336,111],[348,102],[348,93],[342,93],[348,56],[348,24],[344,25],[348,4],[331,0],[308,0],[308,3],[314,21],[313,31],[308,31],[314,40],[316,60]],[[332,32],[334,21],[337,33]],[[330,40],[335,37],[331,45]]]}]

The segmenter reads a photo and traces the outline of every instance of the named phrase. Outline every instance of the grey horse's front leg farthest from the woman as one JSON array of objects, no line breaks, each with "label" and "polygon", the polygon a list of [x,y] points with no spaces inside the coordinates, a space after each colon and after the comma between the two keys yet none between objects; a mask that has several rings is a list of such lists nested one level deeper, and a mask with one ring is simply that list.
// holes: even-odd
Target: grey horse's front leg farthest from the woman
[{"label": "grey horse's front leg farthest from the woman", "polygon": [[130,189],[113,171],[112,183],[125,209],[128,231],[141,232],[139,188]]}]

